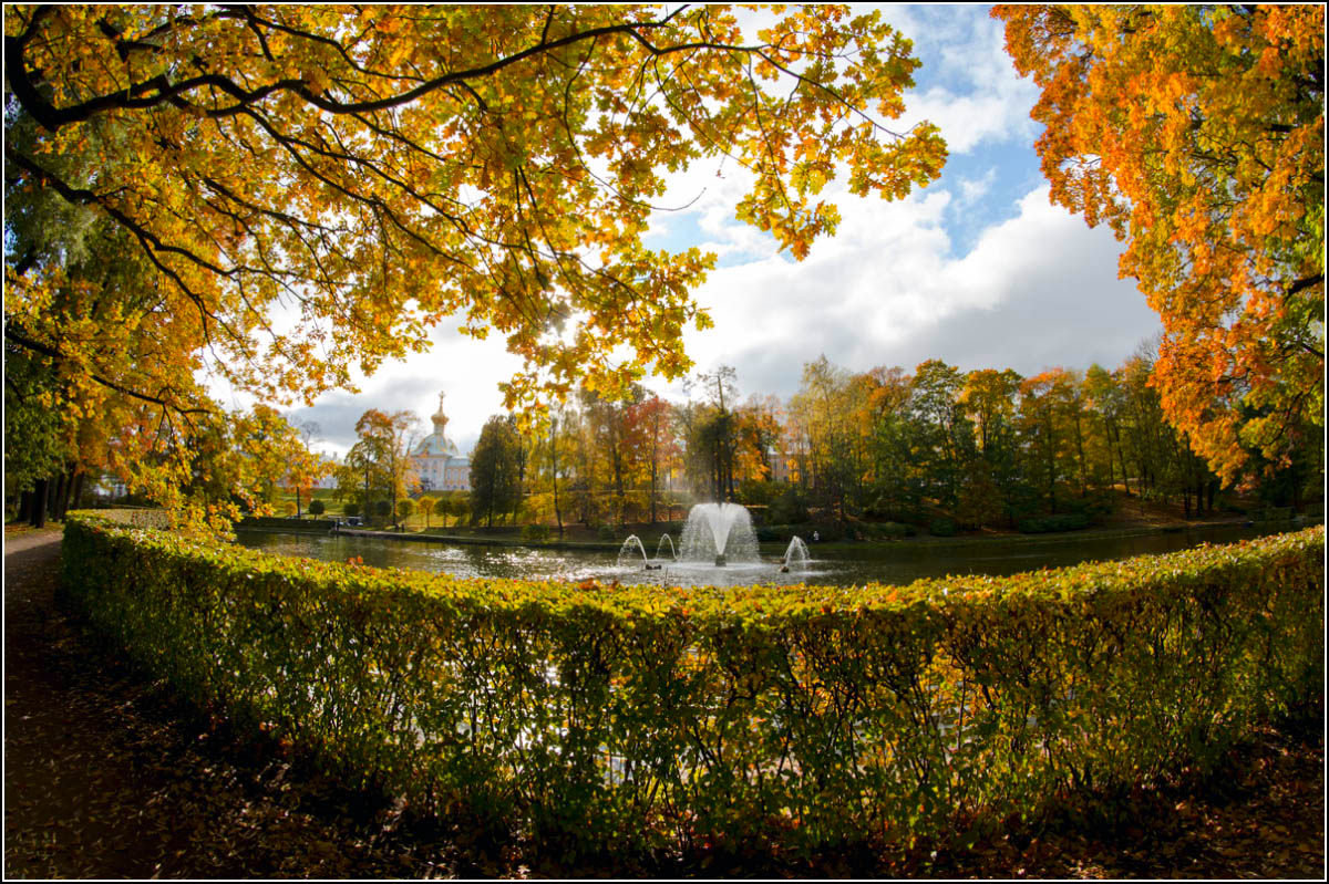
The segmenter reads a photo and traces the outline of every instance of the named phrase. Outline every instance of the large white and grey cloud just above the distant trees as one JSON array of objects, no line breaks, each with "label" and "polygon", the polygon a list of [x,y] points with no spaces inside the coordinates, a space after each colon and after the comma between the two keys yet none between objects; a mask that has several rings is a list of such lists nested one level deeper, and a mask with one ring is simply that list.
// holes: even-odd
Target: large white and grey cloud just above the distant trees
[{"label": "large white and grey cloud just above the distant trees", "polygon": [[690,333],[690,354],[703,369],[735,365],[744,390],[788,396],[821,353],[857,372],[942,358],[1033,373],[1115,365],[1156,331],[1143,296],[1116,279],[1111,234],[1051,206],[1046,186],[958,258],[949,202],[945,191],[851,199],[840,235],[807,261],[718,271],[698,292],[716,328]]}]

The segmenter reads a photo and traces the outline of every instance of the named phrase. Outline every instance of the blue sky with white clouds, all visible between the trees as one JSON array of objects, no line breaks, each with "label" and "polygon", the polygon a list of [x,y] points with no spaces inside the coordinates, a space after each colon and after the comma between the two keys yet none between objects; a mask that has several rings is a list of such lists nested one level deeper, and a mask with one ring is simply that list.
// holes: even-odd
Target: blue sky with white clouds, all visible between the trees
[{"label": "blue sky with white clouds, all visible between the trees", "polygon": [[[687,208],[657,212],[646,246],[698,246],[719,258],[695,292],[715,327],[684,336],[695,370],[732,365],[743,397],[783,400],[823,354],[852,372],[912,370],[928,358],[1026,376],[1116,368],[1162,325],[1135,284],[1118,279],[1122,244],[1111,231],[1049,202],[1034,151],[1039,126],[1029,117],[1038,90],[1017,76],[1001,23],[986,5],[880,8],[922,62],[892,127],[928,119],[941,129],[941,178],[889,203],[841,191],[839,232],[803,261],[734,218],[746,183],[732,169],[716,178],[714,166],[698,166],[670,179],[659,204]],[[824,192],[835,196],[835,184]],[[314,447],[342,455],[367,409],[413,411],[423,434],[445,392],[448,434],[468,453],[502,410],[498,382],[521,362],[501,337],[476,341],[457,325],[440,324],[428,353],[385,364],[360,393],[327,393],[288,414],[316,422]],[[679,382],[649,377],[645,386],[686,398]]]}]

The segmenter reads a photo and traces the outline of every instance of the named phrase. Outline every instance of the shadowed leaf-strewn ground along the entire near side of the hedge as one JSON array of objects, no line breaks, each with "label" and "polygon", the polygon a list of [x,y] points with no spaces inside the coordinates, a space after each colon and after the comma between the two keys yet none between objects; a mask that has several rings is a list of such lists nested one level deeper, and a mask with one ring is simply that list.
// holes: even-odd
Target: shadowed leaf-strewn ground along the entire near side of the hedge
[{"label": "shadowed leaf-strewn ground along the entire near side of the hedge", "polygon": [[1324,730],[1260,734],[1225,770],[1011,822],[970,849],[744,852],[563,864],[348,792],[117,661],[56,601],[60,535],[5,535],[9,877],[929,876],[1321,879]]}]

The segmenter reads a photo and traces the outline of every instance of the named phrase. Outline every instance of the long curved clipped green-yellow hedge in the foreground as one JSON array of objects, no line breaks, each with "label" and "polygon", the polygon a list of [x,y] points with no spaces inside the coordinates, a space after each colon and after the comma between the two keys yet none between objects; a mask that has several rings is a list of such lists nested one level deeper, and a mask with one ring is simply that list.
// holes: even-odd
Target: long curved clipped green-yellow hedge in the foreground
[{"label": "long curved clipped green-yellow hedge in the foreground", "polygon": [[462,580],[81,515],[66,588],[355,784],[586,849],[962,831],[1322,702],[1324,528],[909,587]]}]

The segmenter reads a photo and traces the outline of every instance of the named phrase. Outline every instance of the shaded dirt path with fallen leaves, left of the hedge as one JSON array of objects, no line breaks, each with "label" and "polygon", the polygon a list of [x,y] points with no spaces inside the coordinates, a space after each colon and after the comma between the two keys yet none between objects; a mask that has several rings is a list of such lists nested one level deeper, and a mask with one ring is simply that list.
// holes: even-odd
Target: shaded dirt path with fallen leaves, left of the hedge
[{"label": "shaded dirt path with fallen leaves, left of the hedge", "polygon": [[5,539],[7,879],[459,872],[437,842],[404,843],[392,808],[286,782],[117,665],[54,604],[58,564],[58,532]]}]

